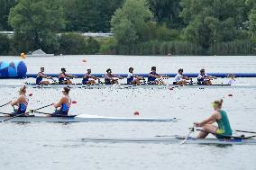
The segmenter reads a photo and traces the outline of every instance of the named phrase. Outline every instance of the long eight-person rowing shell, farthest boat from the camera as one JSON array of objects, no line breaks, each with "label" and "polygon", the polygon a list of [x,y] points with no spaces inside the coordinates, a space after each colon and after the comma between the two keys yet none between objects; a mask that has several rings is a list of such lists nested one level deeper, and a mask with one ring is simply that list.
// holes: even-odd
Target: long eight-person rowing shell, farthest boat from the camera
[{"label": "long eight-person rowing shell, farthest boat from the camera", "polygon": [[[0,87],[20,87],[27,85],[30,88],[63,88],[67,85],[36,85],[36,84],[1,84]],[[81,85],[72,84],[70,88],[81,88],[81,89],[105,89],[105,88],[117,88],[117,89],[172,89],[172,88],[256,88],[256,85]]]}]

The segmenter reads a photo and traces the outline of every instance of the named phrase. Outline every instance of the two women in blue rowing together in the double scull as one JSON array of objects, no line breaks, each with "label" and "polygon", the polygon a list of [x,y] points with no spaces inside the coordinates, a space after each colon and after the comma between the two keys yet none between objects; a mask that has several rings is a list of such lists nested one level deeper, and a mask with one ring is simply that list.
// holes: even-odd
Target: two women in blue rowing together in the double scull
[{"label": "two women in blue rowing together in the double scull", "polygon": [[[60,98],[59,102],[50,104],[50,105],[53,105],[54,108],[56,108],[55,112],[52,115],[64,115],[64,116],[68,115],[69,108],[71,105],[69,91],[70,91],[70,89],[68,87],[64,87],[62,90],[63,96]],[[27,107],[28,107],[29,99],[26,96],[26,92],[27,92],[26,86],[23,85],[19,90],[19,96],[17,97],[17,99],[9,102],[13,107],[14,106],[18,107],[17,109],[14,108],[14,112],[10,114],[11,116],[27,114]]]}]

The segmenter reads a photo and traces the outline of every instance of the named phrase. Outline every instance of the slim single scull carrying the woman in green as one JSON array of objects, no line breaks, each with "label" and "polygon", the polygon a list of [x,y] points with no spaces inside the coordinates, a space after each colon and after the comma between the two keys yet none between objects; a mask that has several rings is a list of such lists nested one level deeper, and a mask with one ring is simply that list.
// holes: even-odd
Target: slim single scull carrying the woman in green
[{"label": "slim single scull carrying the woman in green", "polygon": [[[107,138],[84,138],[85,142],[96,143],[164,143],[164,144],[179,144],[183,139],[181,137],[176,138],[151,138],[151,139],[107,139]],[[200,144],[200,145],[255,145],[256,139],[195,139],[189,137],[186,140],[186,144]]]}]

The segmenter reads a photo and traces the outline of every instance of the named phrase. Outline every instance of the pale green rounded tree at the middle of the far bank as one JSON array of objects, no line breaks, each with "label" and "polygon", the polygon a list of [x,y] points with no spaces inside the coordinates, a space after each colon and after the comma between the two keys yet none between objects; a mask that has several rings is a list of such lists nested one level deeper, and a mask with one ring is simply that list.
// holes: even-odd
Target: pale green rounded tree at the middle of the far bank
[{"label": "pale green rounded tree at the middle of the far bank", "polygon": [[111,31],[120,44],[137,43],[149,37],[144,32],[151,20],[152,13],[146,0],[126,0],[112,17]]}]

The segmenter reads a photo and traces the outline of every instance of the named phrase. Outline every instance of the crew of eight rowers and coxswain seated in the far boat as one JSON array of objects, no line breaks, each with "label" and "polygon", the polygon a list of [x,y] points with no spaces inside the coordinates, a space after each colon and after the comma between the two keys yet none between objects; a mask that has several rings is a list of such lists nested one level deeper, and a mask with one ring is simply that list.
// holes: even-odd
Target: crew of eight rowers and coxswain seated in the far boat
[{"label": "crew of eight rowers and coxswain seated in the far boat", "polygon": [[[127,85],[141,85],[141,81],[145,84],[146,81],[144,77],[142,76],[136,76],[133,73],[134,68],[129,67],[128,69],[128,74],[127,74]],[[165,85],[164,79],[168,79],[169,76],[162,76],[157,73],[157,68],[156,67],[151,67],[151,72],[148,75],[148,82],[147,84],[149,85]],[[189,78],[187,76],[183,76],[183,69],[180,68],[178,69],[178,74],[174,77],[173,85],[193,85],[192,78]],[[100,81],[100,78],[96,76],[91,75],[92,70],[87,69],[87,74],[83,76],[82,79],[82,84],[83,85],[96,85],[96,80],[98,80],[99,84],[102,84]],[[231,75],[229,76],[230,80],[228,82],[228,85],[233,85],[235,84],[234,76]],[[69,75],[66,73],[66,68],[61,68],[61,73],[59,73],[58,78],[59,82],[56,82],[51,76],[46,76],[44,74],[44,67],[41,67],[41,71],[37,74],[36,77],[36,84],[37,85],[49,85],[49,81],[43,81],[43,78],[48,78],[54,81],[55,84],[59,85],[71,85],[72,82],[70,79],[72,78],[77,78],[77,76]],[[212,85],[212,80],[215,79],[215,76],[208,76],[206,74],[205,69],[201,69],[200,73],[197,76],[197,85]],[[123,79],[123,76],[116,76],[112,73],[111,68],[106,69],[106,74],[105,74],[105,85],[114,85],[114,84],[119,84],[119,79]]]}]

